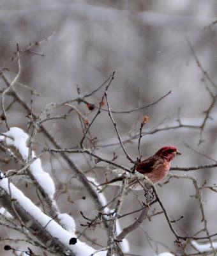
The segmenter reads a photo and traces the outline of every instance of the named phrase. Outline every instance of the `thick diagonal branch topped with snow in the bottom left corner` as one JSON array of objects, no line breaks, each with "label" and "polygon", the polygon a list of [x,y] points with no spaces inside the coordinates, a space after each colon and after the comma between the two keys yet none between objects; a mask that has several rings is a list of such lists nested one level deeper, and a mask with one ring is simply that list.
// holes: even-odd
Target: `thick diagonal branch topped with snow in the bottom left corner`
[{"label": "thick diagonal branch topped with snow in the bottom left corner", "polygon": [[[66,252],[71,256],[88,256],[95,252],[91,246],[82,243],[77,239],[77,243],[70,245],[72,234],[61,227],[55,220],[41,212],[41,210],[27,198],[22,191],[17,189],[7,178],[0,180],[0,203],[10,212],[17,215],[24,223],[24,227],[34,233],[38,239],[49,249],[55,249],[58,253]],[[12,203],[13,202],[13,203]],[[11,206],[13,205],[13,207]],[[15,214],[16,212],[16,214]],[[61,214],[61,218],[66,222],[71,221],[68,216]],[[71,232],[75,231],[71,223]],[[75,234],[73,234],[75,235]],[[95,255],[105,255],[100,252]]]}]

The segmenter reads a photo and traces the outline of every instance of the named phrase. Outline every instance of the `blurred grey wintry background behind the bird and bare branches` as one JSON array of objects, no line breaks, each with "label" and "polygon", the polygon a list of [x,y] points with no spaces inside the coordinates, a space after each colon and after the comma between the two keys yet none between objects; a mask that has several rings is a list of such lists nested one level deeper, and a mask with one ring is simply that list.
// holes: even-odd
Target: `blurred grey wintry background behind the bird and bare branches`
[{"label": "blurred grey wintry background behind the bird and bare branches", "polygon": [[[24,49],[31,42],[48,38],[53,33],[47,42],[33,48],[34,52],[25,52],[21,58],[22,74],[19,82],[31,86],[40,96],[31,95],[23,86],[17,85],[15,88],[28,104],[33,99],[35,113],[40,113],[50,102],[74,99],[77,97],[77,86],[83,94],[92,92],[114,70],[115,79],[108,90],[108,100],[113,110],[127,111],[146,106],[171,90],[165,99],[149,108],[130,114],[114,114],[119,132],[126,139],[138,134],[144,115],[149,116],[144,132],[150,132],[154,127],[179,125],[177,118],[180,118],[182,124],[201,125],[206,116],[204,111],[209,109],[213,100],[211,93],[217,93],[215,84],[211,84],[198,67],[188,43],[191,43],[200,65],[215,83],[217,24],[211,25],[217,19],[215,0],[1,0],[0,13],[0,68],[8,65],[17,43]],[[6,75],[12,79],[17,72],[17,63],[12,63],[10,70]],[[3,81],[0,84],[1,89],[4,88]],[[103,89],[89,98],[89,102],[98,105],[102,95]],[[10,101],[10,97],[6,97],[6,104]],[[78,107],[88,114],[89,120],[96,113],[96,110],[89,113],[85,104],[79,104]],[[66,108],[58,109],[57,113],[66,113]],[[166,129],[144,136],[141,148],[143,158],[151,156],[160,147],[175,145],[183,154],[174,160],[173,166],[214,163],[217,161],[216,114],[213,106],[209,115],[212,119],[207,119],[202,132],[202,142],[200,129],[188,127]],[[8,111],[8,120],[11,127],[17,126],[27,131],[26,112],[18,103],[13,104]],[[74,113],[66,120],[46,122],[45,126],[62,147],[76,147],[82,136],[79,118]],[[6,129],[2,122],[1,132],[4,131]],[[118,142],[114,126],[105,112],[96,118],[91,132],[97,137],[98,145]],[[36,152],[40,152],[47,143],[49,145],[49,141],[41,134],[36,138]],[[135,159],[138,157],[137,144],[138,140],[126,143],[128,152]],[[186,144],[213,157],[213,160],[198,154]],[[118,156],[117,163],[131,168],[119,145],[98,147],[97,150],[98,154],[108,159],[112,159],[114,152]],[[89,159],[79,155],[72,155],[71,159],[90,177],[96,177],[98,182],[105,181],[103,164],[98,164],[98,168],[91,172]],[[79,212],[88,215],[90,209],[94,211],[91,199],[88,199],[81,184],[71,179],[71,170],[58,155],[44,156],[42,160],[45,170],[53,175],[58,191],[70,180],[67,193],[61,194],[57,202],[61,211],[70,212],[75,217],[80,232],[83,219]],[[6,171],[8,168],[10,164],[1,163],[1,169]],[[217,179],[216,168],[188,174],[197,177],[200,185],[205,180],[207,184],[213,185]],[[17,180],[17,183],[20,188],[24,185],[22,180]],[[25,189],[32,191],[31,186]],[[162,187],[157,186],[157,189],[170,218],[176,220],[184,216],[174,224],[177,232],[191,235],[203,227],[198,201],[192,197],[195,194],[192,182],[172,179]],[[34,191],[31,193],[34,198]],[[140,191],[137,194],[142,200],[144,193]],[[114,187],[107,188],[105,196],[107,200],[111,199]],[[69,202],[69,198],[73,202]],[[128,193],[122,213],[140,208],[135,198],[133,193]],[[216,194],[204,190],[207,226],[211,234],[216,232],[214,202]],[[160,211],[158,205],[154,207],[156,212]],[[121,228],[137,216],[133,214],[123,218]],[[106,236],[99,238],[101,232],[92,230],[86,234],[92,238],[94,236],[98,244],[105,245]],[[0,236],[13,237],[16,234],[3,229]],[[91,244],[85,237],[81,237],[81,240]],[[163,214],[154,216],[151,221],[145,220],[140,228],[128,236],[130,253],[135,255],[155,255],[154,250],[183,253],[183,248],[177,247],[174,240]],[[166,244],[169,249],[158,241]],[[98,249],[96,245],[93,246]]]}]

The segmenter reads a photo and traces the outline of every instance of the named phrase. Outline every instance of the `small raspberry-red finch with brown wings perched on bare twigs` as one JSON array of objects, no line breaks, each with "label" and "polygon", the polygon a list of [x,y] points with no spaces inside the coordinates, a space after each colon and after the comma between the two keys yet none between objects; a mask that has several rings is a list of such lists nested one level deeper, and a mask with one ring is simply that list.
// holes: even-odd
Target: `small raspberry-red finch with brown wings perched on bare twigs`
[{"label": "small raspberry-red finch with brown wings perched on bare twigs", "polygon": [[[138,162],[135,166],[135,170],[138,173],[144,174],[153,184],[157,184],[167,177],[171,161],[177,155],[181,155],[181,153],[174,146],[160,148],[153,156]],[[119,185],[121,180],[123,180],[123,177],[118,177],[100,184],[99,186],[107,184]],[[144,189],[136,177],[128,179],[128,188],[133,190]]]}]

